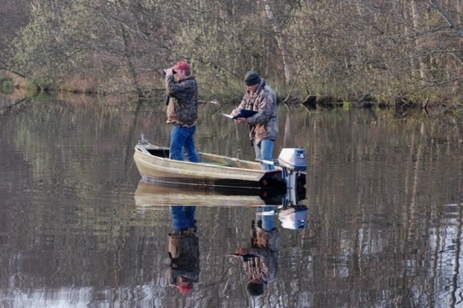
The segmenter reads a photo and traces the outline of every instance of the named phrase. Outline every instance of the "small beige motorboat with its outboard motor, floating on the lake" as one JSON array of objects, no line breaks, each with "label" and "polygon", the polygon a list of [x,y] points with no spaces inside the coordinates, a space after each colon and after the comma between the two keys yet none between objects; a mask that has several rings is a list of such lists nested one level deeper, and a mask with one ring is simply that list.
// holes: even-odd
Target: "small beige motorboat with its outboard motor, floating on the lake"
[{"label": "small beige motorboat with its outboard motor, floating on the lake", "polygon": [[307,170],[302,149],[283,149],[273,171],[262,171],[260,163],[237,158],[204,153],[198,156],[201,163],[171,160],[169,148],[151,145],[142,136],[135,147],[134,160],[144,179],[217,187],[294,187],[299,180],[305,181],[301,172]]}]

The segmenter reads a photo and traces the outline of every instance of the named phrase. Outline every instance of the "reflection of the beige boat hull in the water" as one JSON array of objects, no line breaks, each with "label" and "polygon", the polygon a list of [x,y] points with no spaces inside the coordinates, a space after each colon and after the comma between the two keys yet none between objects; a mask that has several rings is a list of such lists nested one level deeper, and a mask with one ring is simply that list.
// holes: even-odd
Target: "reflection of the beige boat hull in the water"
[{"label": "reflection of the beige boat hull in the water", "polygon": [[281,204],[286,189],[242,190],[207,186],[178,185],[142,179],[135,191],[137,206],[205,205],[205,206],[262,206]]}]

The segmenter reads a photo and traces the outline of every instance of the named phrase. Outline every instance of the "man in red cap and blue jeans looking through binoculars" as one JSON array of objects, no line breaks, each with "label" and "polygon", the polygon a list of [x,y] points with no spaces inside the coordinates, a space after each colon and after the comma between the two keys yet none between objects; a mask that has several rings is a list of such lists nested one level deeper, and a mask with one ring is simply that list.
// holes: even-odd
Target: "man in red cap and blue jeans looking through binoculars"
[{"label": "man in red cap and blue jeans looking through binoculars", "polygon": [[[174,77],[175,76],[175,77]],[[194,132],[198,118],[198,83],[191,76],[190,64],[178,62],[165,70],[167,123],[172,124],[170,158],[183,161],[184,152],[192,163],[199,163],[194,147]]]}]

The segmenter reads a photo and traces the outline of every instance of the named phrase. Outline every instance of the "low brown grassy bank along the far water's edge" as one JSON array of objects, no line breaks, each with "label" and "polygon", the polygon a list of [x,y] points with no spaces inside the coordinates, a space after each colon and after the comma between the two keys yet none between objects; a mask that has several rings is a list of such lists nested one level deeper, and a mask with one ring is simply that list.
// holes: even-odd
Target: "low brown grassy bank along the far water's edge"
[{"label": "low brown grassy bank along the far water's edge", "polygon": [[[244,93],[244,86],[241,80],[229,83],[228,88],[215,88],[214,81],[201,79],[200,99],[203,102],[218,102],[220,104],[238,104]],[[85,94],[91,96],[120,96],[125,95],[131,98],[142,98],[145,100],[164,100],[165,85],[164,77],[157,76],[154,79],[146,79],[141,84],[141,91],[137,93],[128,80],[120,79],[99,79],[94,76],[80,76],[64,81],[57,80],[33,80],[24,79],[14,74],[4,72],[0,75],[0,91],[3,94],[11,94],[14,91],[27,93],[32,97],[40,93],[56,95],[60,93]],[[451,113],[457,118],[463,114],[463,103],[461,98],[452,96],[451,93],[442,93],[441,89],[422,91],[420,95],[402,96],[392,93],[364,93],[348,92],[336,88],[320,89],[319,93],[308,93],[297,84],[291,86],[276,84],[272,81],[269,84],[275,89],[279,103],[288,105],[300,104],[307,110],[362,107],[362,108],[392,108],[399,113],[406,115],[410,110],[418,109],[430,114]],[[306,93],[304,93],[306,92]]]}]

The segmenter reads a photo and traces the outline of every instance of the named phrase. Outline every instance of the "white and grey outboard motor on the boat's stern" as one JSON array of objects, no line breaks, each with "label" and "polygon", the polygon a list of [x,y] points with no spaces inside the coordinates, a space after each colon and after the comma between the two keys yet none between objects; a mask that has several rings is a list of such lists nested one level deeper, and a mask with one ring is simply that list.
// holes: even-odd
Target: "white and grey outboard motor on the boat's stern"
[{"label": "white and grey outboard motor on the boat's stern", "polygon": [[284,148],[279,153],[278,163],[283,169],[287,187],[290,189],[297,188],[298,177],[303,175],[301,172],[307,170],[306,151],[300,148]]}]

